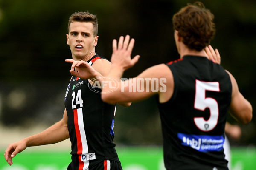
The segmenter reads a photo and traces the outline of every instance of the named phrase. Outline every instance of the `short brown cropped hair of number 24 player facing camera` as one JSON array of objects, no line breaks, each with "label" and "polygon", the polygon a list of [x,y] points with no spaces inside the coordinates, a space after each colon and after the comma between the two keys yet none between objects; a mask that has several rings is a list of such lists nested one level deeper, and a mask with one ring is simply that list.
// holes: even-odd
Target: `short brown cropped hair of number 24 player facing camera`
[{"label": "short brown cropped hair of number 24 player facing camera", "polygon": [[93,24],[93,36],[98,35],[98,19],[96,15],[90,14],[87,12],[75,12],[72,14],[69,18],[68,25],[67,25],[67,33],[69,34],[69,28],[70,24],[74,21],[80,21],[80,22],[91,22]]}]

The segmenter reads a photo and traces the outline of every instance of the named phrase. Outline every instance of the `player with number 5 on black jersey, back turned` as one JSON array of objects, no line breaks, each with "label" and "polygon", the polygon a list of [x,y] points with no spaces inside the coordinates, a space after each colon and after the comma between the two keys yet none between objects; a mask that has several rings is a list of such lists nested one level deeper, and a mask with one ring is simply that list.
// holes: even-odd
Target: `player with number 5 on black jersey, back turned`
[{"label": "player with number 5 on black jersey, back turned", "polygon": [[[218,50],[209,46],[215,34],[212,20],[213,14],[202,3],[181,8],[173,16],[180,59],[155,65],[136,79],[127,80],[134,83],[138,78],[165,77],[165,92],[121,91],[119,87],[112,93],[102,93],[102,100],[109,103],[157,95],[167,170],[227,170],[223,153],[227,113],[230,111],[241,123],[252,119],[252,106],[239,92],[235,78],[220,65]],[[139,56],[131,59],[133,46],[134,39],[130,41],[129,36],[120,37],[118,44],[113,40],[112,66],[107,77],[120,79],[138,61]],[[104,91],[109,91],[108,86]]]}]

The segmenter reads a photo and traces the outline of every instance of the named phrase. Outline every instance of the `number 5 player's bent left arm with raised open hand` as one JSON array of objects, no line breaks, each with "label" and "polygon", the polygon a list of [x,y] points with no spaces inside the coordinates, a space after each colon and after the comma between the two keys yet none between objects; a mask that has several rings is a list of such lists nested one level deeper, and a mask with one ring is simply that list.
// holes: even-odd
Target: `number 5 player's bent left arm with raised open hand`
[{"label": "number 5 player's bent left arm with raised open hand", "polygon": [[113,40],[112,66],[106,82],[113,79],[119,86],[111,91],[110,86],[106,85],[102,90],[102,100],[108,103],[134,102],[159,94],[159,101],[166,102],[172,96],[174,83],[172,72],[165,64],[155,65],[135,78],[120,81],[123,72],[131,68],[140,57],[137,55],[131,59],[133,46],[134,39],[130,40],[128,35],[125,38],[121,36],[118,44]]}]

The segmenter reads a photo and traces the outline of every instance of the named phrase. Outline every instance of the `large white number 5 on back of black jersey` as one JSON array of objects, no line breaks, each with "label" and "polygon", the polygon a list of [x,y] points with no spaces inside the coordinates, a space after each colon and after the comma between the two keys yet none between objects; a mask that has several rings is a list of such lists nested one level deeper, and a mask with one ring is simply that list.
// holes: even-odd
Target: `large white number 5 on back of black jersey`
[{"label": "large white number 5 on back of black jersey", "polygon": [[208,120],[204,120],[204,117],[194,117],[195,125],[204,132],[214,129],[218,123],[219,116],[218,102],[211,97],[206,97],[206,91],[220,91],[219,82],[203,82],[199,80],[195,82],[194,108],[200,111],[204,111],[206,108],[210,110]]}]

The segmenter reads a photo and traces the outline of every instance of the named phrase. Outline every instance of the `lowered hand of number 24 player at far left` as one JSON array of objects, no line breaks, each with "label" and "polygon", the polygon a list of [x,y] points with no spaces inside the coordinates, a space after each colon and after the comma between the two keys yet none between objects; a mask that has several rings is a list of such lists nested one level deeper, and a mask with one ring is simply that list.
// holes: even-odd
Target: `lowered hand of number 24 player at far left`
[{"label": "lowered hand of number 24 player at far left", "polygon": [[26,149],[26,144],[23,141],[15,142],[9,144],[4,152],[4,158],[6,159],[9,165],[13,164],[12,158],[17,155],[17,153],[22,152]]}]

